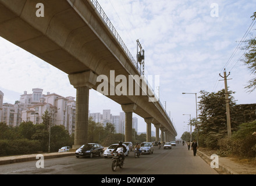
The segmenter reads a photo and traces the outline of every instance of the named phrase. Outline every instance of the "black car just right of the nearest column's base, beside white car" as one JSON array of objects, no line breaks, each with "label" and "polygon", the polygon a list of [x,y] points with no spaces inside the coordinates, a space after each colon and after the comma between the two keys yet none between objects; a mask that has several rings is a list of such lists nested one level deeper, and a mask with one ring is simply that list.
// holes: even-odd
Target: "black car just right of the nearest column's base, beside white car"
[{"label": "black car just right of the nearest column's base, beside white car", "polygon": [[76,158],[79,158],[80,156],[89,156],[90,158],[93,158],[95,155],[101,156],[102,153],[102,146],[99,146],[99,144],[88,143],[77,149],[75,155]]}]

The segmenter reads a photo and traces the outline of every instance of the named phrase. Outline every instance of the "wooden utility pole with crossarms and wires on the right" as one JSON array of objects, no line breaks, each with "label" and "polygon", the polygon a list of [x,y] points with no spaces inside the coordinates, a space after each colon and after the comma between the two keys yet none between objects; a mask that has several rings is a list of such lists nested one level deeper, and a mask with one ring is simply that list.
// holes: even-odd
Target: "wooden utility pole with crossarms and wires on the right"
[{"label": "wooden utility pole with crossarms and wires on the right", "polygon": [[[230,75],[230,72],[229,72]],[[227,115],[227,136],[231,137],[231,122],[230,122],[230,110],[229,110],[229,92],[227,91],[227,80],[232,80],[232,79],[227,79],[229,77],[226,73],[226,69],[224,69],[224,77],[219,74],[222,78],[224,78],[225,82],[225,99],[226,99],[226,115]],[[223,81],[223,80],[220,80]]]}]

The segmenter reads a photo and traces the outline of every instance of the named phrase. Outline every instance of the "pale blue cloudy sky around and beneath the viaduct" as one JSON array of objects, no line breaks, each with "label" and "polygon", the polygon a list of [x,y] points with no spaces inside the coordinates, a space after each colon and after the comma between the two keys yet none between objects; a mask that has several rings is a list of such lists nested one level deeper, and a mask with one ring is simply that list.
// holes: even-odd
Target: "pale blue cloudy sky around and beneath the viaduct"
[{"label": "pale blue cloudy sky around and beneath the viaduct", "polygon": [[[145,50],[145,75],[159,75],[159,97],[177,131],[189,130],[189,115],[195,117],[195,95],[224,88],[223,70],[230,71],[229,90],[237,104],[256,103],[256,92],[244,88],[253,75],[243,65],[240,48],[255,34],[251,16],[256,0],[98,0],[127,48],[136,59],[139,40]],[[253,26],[253,27],[251,27]],[[247,35],[248,33],[248,35]],[[0,91],[3,102],[15,103],[33,88],[62,96],[76,96],[66,73],[0,37]],[[197,99],[199,101],[200,99]],[[90,90],[91,113],[111,109],[119,115],[118,103]],[[199,111],[198,111],[199,115]],[[146,131],[138,117],[138,132]],[[152,125],[152,130],[155,127]]]}]

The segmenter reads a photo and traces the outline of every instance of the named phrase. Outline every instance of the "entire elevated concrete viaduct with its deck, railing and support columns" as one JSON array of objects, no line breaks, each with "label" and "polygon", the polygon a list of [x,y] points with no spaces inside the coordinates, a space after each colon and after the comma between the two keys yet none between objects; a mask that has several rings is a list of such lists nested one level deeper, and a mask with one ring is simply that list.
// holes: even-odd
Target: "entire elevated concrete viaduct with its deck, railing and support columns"
[{"label": "entire elevated concrete viaduct with its deck, railing and support columns", "polygon": [[[36,14],[38,3],[43,5],[44,17]],[[74,148],[87,142],[89,90],[101,84],[97,77],[111,78],[111,71],[115,77],[141,76],[140,66],[95,0],[0,0],[0,35],[68,74],[77,91]],[[109,87],[118,84],[108,82]],[[177,133],[172,121],[159,101],[149,101],[154,98],[150,86],[146,92],[106,95],[126,113],[125,141],[131,141],[133,112],[147,123],[147,141],[151,140],[151,123],[158,135],[161,129],[161,140],[163,131],[165,140],[174,140]]]}]

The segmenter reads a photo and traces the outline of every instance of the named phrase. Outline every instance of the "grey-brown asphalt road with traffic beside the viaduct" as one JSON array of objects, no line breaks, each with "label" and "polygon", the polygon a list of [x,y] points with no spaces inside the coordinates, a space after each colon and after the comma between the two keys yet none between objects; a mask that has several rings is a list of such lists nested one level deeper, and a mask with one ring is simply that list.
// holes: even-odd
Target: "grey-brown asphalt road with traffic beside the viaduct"
[{"label": "grey-brown asphalt road with traffic beside the viaduct", "polygon": [[33,162],[0,166],[0,174],[218,174],[200,156],[193,156],[186,146],[178,144],[172,149],[158,149],[154,153],[134,158],[133,152],[125,159],[123,169],[111,170],[111,158],[94,157],[45,159],[44,168]]}]

